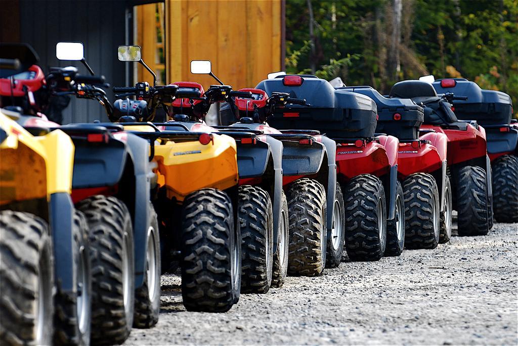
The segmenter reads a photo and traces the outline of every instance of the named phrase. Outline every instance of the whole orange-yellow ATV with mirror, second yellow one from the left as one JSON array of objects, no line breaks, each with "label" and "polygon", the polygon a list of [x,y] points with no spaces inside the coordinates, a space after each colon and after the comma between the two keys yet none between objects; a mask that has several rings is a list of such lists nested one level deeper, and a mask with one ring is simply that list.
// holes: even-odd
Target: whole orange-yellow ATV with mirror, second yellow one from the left
[{"label": "whole orange-yellow ATV with mirror, second yellow one from the left", "polygon": [[[146,66],[138,46],[120,46],[119,59]],[[149,140],[151,159],[157,165],[153,197],[161,225],[163,268],[180,265],[186,309],[229,310],[238,302],[241,287],[236,141],[207,131],[188,131],[181,124],[177,125],[184,131],[168,131],[142,122],[151,120],[177,94],[192,95],[182,94],[176,85],[137,83],[113,89],[123,93],[116,97],[137,97],[115,101],[113,117],[128,131]],[[240,136],[256,140],[253,133]]]}]

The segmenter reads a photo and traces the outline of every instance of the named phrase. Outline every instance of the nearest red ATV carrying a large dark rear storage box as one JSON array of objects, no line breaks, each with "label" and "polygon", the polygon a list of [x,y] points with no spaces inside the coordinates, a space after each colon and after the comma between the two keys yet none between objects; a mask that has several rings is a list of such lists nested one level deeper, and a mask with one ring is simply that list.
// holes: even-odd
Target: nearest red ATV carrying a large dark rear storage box
[{"label": "nearest red ATV carrying a large dark rear storage box", "polygon": [[[397,189],[398,140],[374,136],[376,103],[367,96],[335,90],[329,82],[311,75],[280,74],[256,88],[270,97],[287,93],[311,104],[286,104],[274,110],[268,119],[271,126],[318,130],[322,138],[325,135],[337,143],[336,175],[343,191],[349,258],[371,261],[384,254],[398,255],[404,239],[394,238],[395,230],[387,231],[387,219],[395,219],[396,201],[403,198]],[[403,211],[399,213],[401,219]]]}]

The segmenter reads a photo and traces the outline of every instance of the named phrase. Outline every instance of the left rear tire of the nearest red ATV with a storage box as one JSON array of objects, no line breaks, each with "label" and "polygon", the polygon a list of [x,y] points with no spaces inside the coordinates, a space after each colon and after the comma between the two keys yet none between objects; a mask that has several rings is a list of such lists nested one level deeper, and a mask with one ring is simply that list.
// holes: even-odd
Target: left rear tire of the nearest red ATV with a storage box
[{"label": "left rear tire of the nearest red ATV with a storage box", "polygon": [[386,201],[381,180],[352,178],[346,188],[346,250],[352,261],[378,261],[386,247]]}]

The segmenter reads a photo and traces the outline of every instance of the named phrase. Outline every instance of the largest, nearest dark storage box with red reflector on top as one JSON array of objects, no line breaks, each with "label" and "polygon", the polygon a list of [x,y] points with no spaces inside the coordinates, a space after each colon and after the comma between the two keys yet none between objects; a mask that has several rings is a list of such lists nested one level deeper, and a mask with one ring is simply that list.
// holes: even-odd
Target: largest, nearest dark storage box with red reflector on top
[{"label": "largest, nearest dark storage box with red reflector on top", "polygon": [[256,87],[268,95],[273,92],[289,93],[293,98],[306,99],[311,106],[289,104],[284,109],[278,109],[268,118],[270,126],[318,130],[330,138],[368,138],[374,135],[376,103],[371,98],[335,90],[329,82],[315,76],[296,76],[284,82],[286,77],[293,76],[267,79]]}]

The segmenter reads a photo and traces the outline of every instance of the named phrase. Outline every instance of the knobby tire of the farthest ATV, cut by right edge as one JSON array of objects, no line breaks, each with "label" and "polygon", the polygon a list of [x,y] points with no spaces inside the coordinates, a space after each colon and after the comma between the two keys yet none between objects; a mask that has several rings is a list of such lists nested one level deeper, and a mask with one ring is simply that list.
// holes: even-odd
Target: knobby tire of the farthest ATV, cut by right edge
[{"label": "knobby tire of the farthest ATV, cut by right edge", "polygon": [[518,222],[518,157],[504,155],[493,162],[493,205],[497,222]]}]

